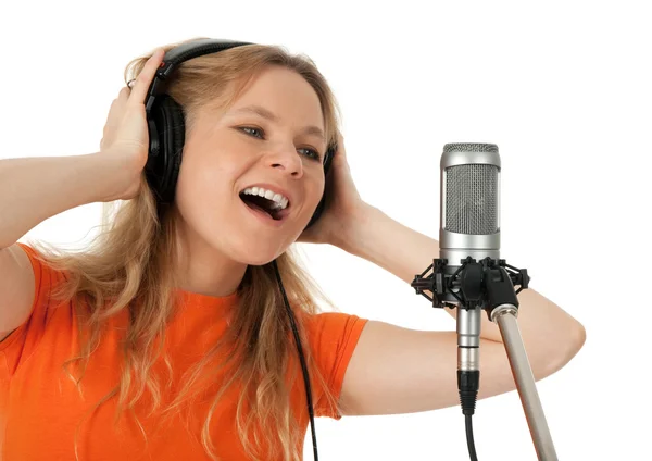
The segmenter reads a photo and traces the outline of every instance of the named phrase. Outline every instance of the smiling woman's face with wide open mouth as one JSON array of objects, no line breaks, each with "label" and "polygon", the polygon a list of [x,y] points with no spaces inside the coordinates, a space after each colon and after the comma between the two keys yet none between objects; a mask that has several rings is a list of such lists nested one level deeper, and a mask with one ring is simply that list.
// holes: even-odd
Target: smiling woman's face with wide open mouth
[{"label": "smiling woman's face with wide open mouth", "polygon": [[[205,109],[186,138],[176,207],[192,250],[265,264],[297,240],[324,191],[324,119],[313,88],[273,66],[224,112]],[[248,205],[261,188],[287,209],[281,220]],[[250,189],[250,192],[255,192]],[[259,197],[258,200],[262,198]],[[272,203],[272,202],[269,202]],[[267,203],[265,203],[267,204]],[[188,244],[188,241],[186,241]]]}]

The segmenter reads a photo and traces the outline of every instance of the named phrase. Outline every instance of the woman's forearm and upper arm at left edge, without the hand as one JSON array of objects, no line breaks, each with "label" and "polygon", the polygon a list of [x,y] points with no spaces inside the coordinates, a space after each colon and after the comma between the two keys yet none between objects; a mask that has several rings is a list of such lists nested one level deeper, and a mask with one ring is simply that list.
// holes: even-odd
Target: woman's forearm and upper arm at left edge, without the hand
[{"label": "woman's forearm and upper arm at left edge, without the hand", "polygon": [[16,241],[72,208],[104,201],[118,164],[105,154],[0,161],[0,340],[29,316],[34,272]]}]

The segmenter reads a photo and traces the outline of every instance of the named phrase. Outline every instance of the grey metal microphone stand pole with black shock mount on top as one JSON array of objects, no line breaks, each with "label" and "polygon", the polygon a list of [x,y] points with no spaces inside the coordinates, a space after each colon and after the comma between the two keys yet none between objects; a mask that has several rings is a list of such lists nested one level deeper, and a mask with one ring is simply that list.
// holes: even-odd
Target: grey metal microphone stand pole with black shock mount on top
[{"label": "grey metal microphone stand pole with black shock mount on top", "polygon": [[[507,264],[505,260],[497,261],[491,258],[476,262],[468,257],[461,260],[461,263],[462,265],[453,274],[450,274],[447,273],[450,272],[450,267],[447,271],[448,260],[435,259],[432,264],[421,275],[414,277],[411,286],[417,295],[423,295],[432,301],[434,308],[448,307],[467,311],[484,309],[489,320],[498,324],[537,457],[540,461],[557,461],[535,377],[516,322],[518,315],[516,295],[528,287],[530,278],[527,275],[527,269],[516,269]],[[425,276],[429,270],[432,270],[432,273]],[[514,285],[519,286],[517,291],[514,290]],[[431,291],[434,297],[429,297],[423,290]],[[464,404],[465,402],[463,402],[463,407]],[[473,407],[475,407],[475,401]],[[473,414],[473,410],[471,414]]]}]

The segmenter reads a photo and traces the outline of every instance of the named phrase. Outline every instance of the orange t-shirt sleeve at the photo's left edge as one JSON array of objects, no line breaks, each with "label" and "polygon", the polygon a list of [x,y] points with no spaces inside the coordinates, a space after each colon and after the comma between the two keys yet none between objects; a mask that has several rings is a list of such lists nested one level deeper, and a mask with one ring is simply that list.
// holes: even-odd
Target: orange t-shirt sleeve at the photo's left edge
[{"label": "orange t-shirt sleeve at the photo's left edge", "polygon": [[0,382],[11,379],[21,363],[34,354],[53,316],[53,303],[50,302],[51,289],[63,279],[62,273],[53,271],[36,258],[32,247],[22,242],[18,245],[29,257],[34,270],[34,302],[27,321],[0,341]]}]

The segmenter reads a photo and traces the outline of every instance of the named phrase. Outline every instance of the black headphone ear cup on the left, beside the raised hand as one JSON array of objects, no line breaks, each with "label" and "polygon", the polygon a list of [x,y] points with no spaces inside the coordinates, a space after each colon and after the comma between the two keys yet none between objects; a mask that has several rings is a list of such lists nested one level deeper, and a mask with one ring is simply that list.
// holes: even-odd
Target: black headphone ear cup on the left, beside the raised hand
[{"label": "black headphone ear cup on the left, beside the raised hand", "polygon": [[159,203],[172,203],[186,138],[181,107],[168,95],[160,95],[148,116],[149,154],[146,177]]}]

